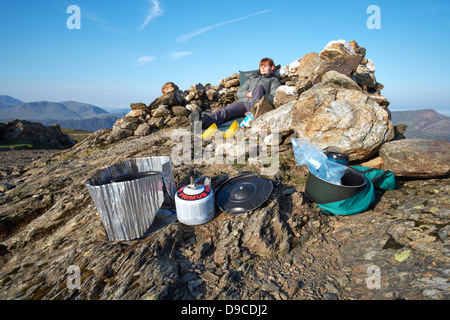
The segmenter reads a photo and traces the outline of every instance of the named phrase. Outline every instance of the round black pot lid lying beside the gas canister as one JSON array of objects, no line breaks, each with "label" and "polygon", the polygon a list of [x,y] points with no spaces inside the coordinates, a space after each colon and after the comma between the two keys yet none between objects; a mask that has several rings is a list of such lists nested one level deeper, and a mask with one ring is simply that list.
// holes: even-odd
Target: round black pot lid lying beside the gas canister
[{"label": "round black pot lid lying beside the gas canister", "polygon": [[215,191],[215,201],[222,211],[239,215],[262,205],[272,190],[271,180],[245,172],[222,183]]}]

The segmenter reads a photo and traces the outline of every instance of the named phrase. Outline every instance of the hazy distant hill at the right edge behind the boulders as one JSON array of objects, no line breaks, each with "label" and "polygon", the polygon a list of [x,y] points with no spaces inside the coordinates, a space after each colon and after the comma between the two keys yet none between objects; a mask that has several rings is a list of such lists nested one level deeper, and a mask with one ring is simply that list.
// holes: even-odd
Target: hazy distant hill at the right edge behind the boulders
[{"label": "hazy distant hill at the right edge behind the boulders", "polygon": [[406,124],[409,139],[436,139],[450,142],[450,117],[433,109],[391,111],[394,125]]}]

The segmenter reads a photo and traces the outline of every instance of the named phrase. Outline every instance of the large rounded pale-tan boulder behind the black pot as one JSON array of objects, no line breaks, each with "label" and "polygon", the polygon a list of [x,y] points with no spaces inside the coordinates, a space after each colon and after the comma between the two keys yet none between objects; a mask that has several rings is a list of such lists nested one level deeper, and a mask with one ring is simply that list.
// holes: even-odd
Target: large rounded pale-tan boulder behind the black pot
[{"label": "large rounded pale-tan boulder behind the black pot", "polygon": [[360,90],[319,83],[292,108],[298,138],[322,149],[334,147],[350,160],[365,160],[394,138],[389,113]]}]

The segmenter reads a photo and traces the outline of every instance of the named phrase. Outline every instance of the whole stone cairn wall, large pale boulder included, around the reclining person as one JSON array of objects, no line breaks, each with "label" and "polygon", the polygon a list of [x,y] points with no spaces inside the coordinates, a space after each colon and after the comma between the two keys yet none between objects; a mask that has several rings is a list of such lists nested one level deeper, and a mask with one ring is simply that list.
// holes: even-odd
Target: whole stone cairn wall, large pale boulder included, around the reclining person
[{"label": "whole stone cairn wall, large pale boulder included, around the reclining person", "polygon": [[[251,127],[269,134],[276,129],[280,144],[289,144],[295,136],[324,151],[345,153],[352,162],[373,161],[371,166],[384,169],[383,159],[375,157],[383,145],[403,139],[406,128],[394,127],[390,102],[381,93],[384,86],[375,71],[366,49],[356,41],[331,41],[321,52],[308,53],[279,68],[282,85],[274,106],[265,99],[255,104]],[[107,142],[167,127],[188,127],[192,111],[212,112],[237,101],[239,86],[237,73],[217,86],[198,83],[185,91],[168,82],[162,95],[149,105],[132,103],[132,110],[117,120]]]}]

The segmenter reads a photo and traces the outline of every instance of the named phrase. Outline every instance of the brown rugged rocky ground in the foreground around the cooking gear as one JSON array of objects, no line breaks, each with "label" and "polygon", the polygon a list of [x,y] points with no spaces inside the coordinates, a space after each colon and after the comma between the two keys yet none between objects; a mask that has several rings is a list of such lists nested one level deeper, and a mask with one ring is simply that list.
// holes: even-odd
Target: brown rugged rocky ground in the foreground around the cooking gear
[{"label": "brown rugged rocky ground in the foreground around the cooking gear", "polygon": [[[1,151],[0,299],[444,300],[450,298],[449,179],[402,181],[353,216],[324,214],[282,148],[282,183],[258,210],[201,226],[163,224],[110,242],[84,182],[131,157],[170,155],[171,131],[66,151]],[[174,167],[234,176],[237,165]],[[214,186],[214,185],[213,185]],[[71,287],[71,268],[79,286]]]}]

